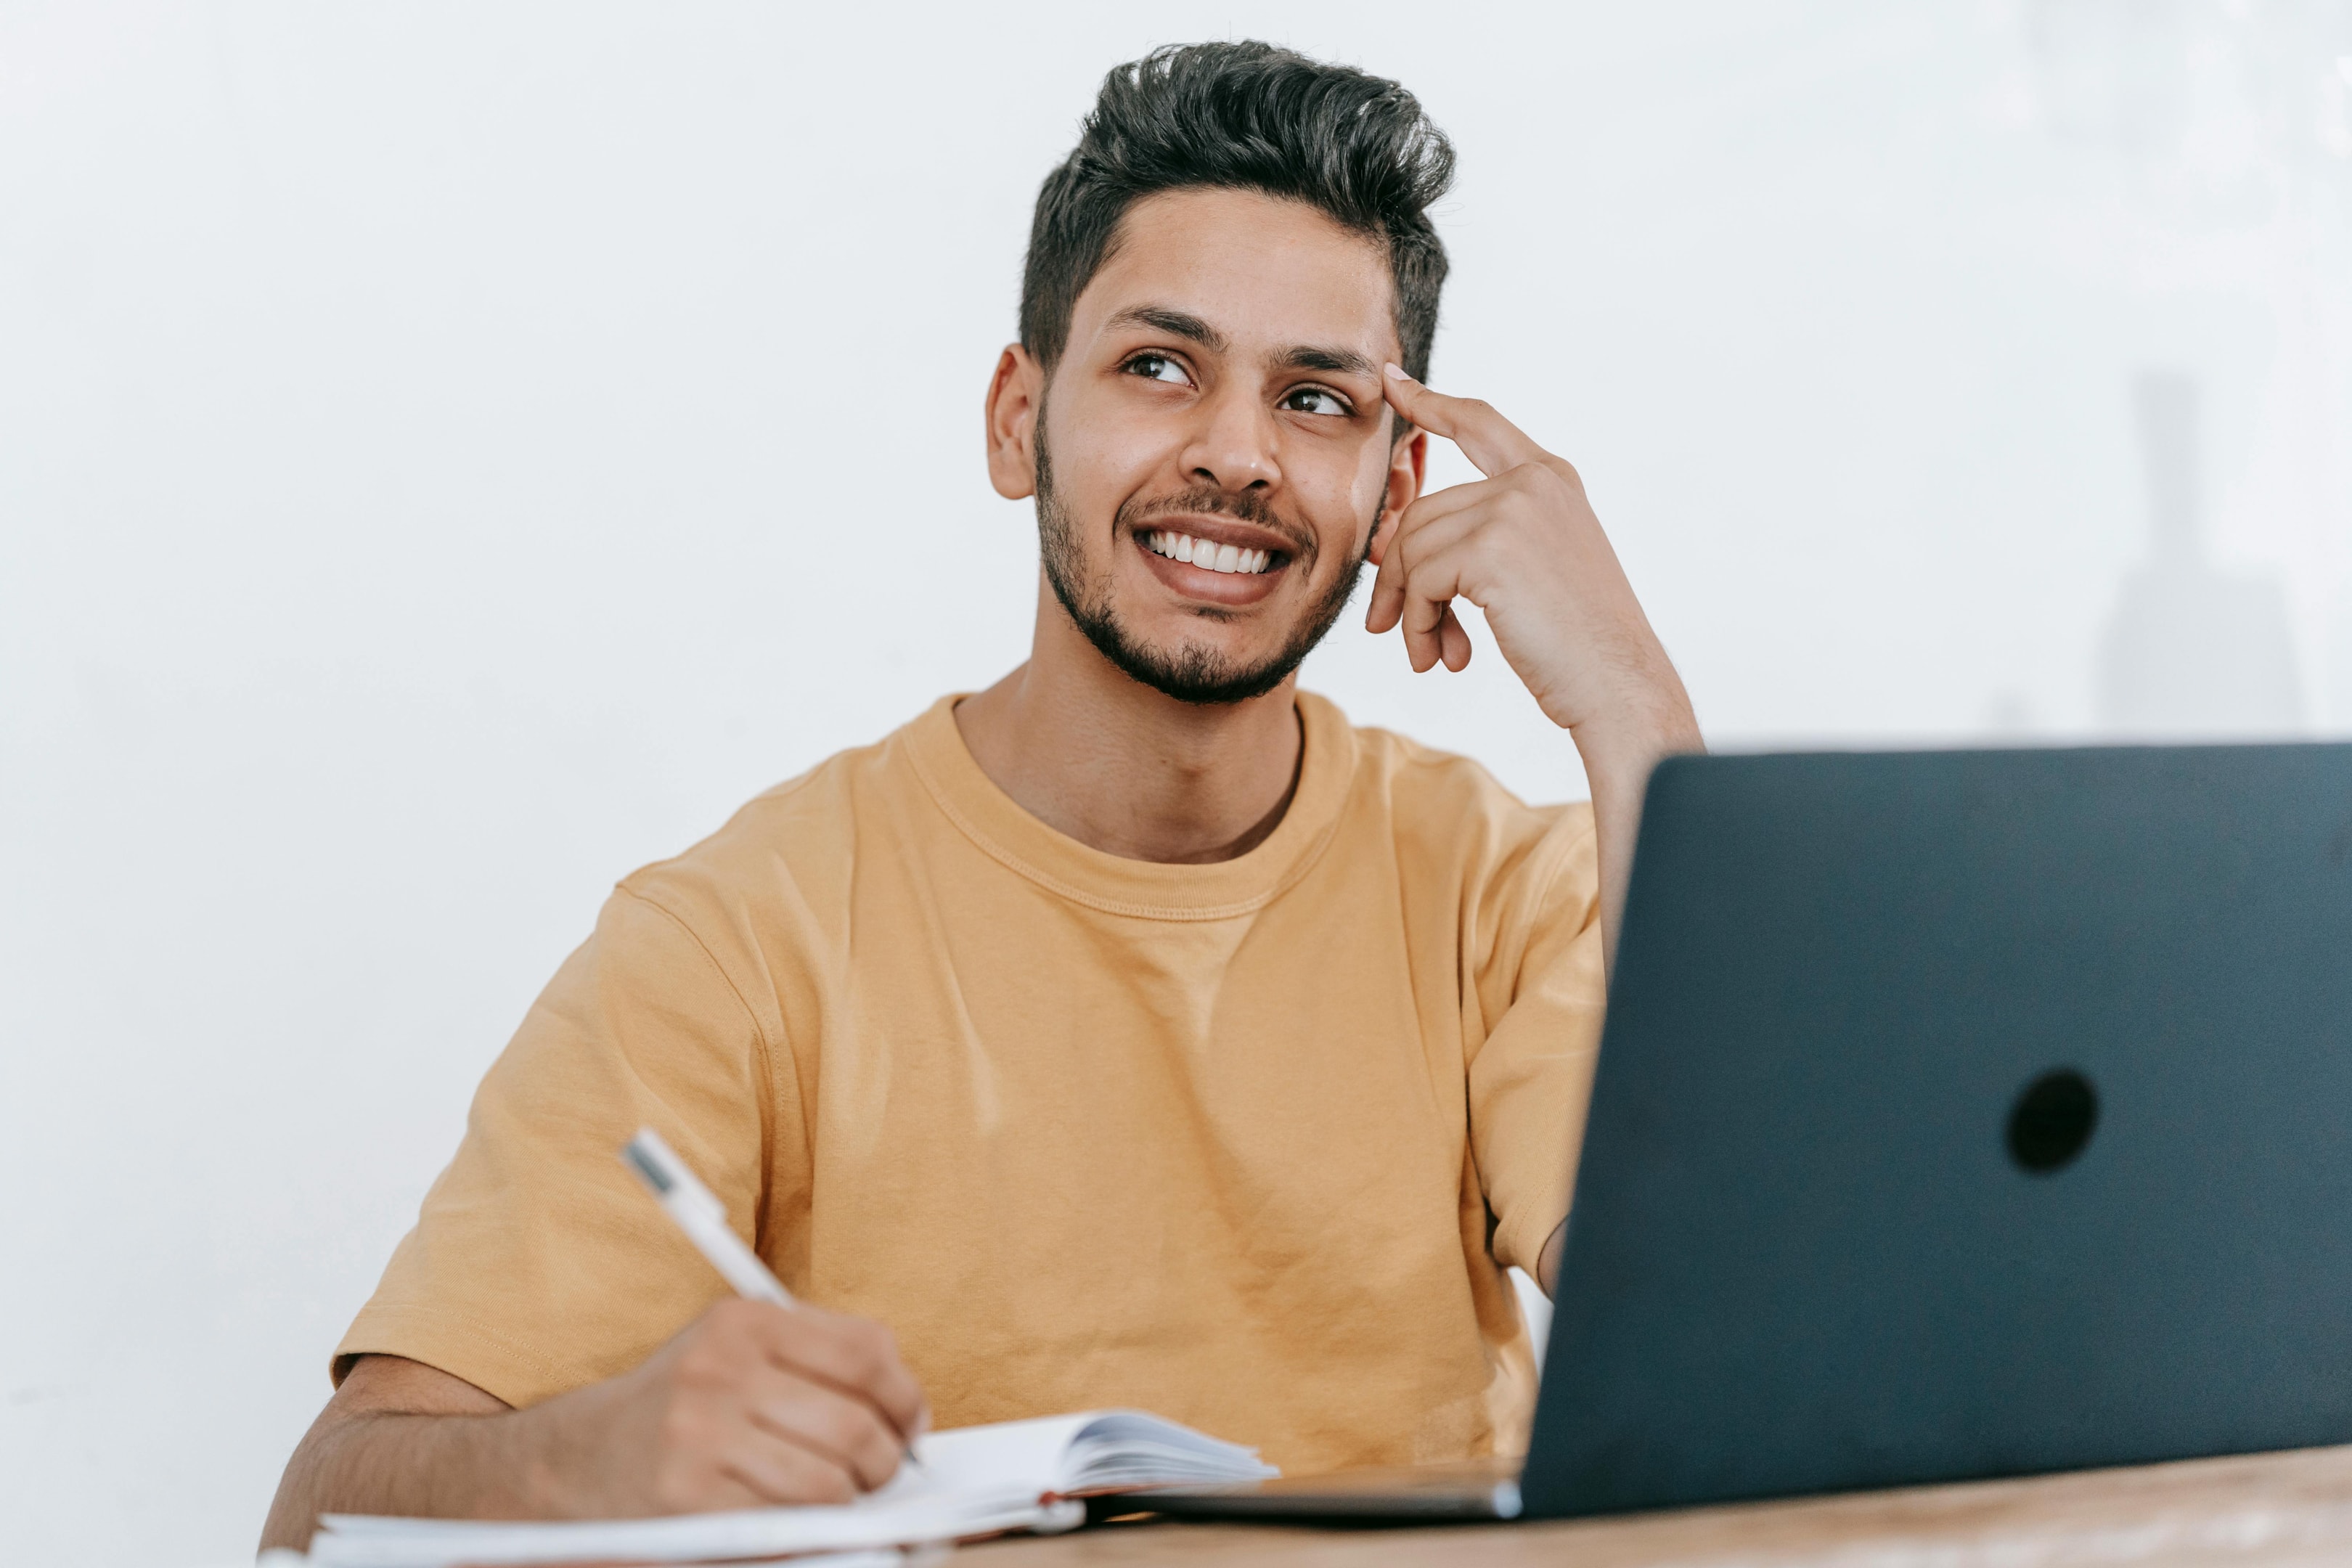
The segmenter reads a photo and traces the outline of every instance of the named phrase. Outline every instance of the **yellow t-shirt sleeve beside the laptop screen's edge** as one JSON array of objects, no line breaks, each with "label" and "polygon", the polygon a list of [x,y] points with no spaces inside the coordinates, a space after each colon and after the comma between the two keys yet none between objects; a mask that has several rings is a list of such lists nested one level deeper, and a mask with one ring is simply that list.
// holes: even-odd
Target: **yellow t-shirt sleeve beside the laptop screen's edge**
[{"label": "yellow t-shirt sleeve beside the laptop screen's edge", "polygon": [[1489,879],[1475,957],[1470,1150],[1496,1262],[1534,1274],[1569,1213],[1606,1006],[1590,806],[1559,809]]}]

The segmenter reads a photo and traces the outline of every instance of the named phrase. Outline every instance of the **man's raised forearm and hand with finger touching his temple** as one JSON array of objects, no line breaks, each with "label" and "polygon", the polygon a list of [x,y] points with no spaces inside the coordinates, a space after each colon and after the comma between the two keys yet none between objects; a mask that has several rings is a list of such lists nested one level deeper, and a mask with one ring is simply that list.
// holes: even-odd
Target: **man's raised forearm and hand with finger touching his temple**
[{"label": "man's raised forearm and hand with finger touching his temple", "polygon": [[1442,435],[1484,480],[1421,496],[1376,541],[1381,574],[1364,625],[1404,628],[1414,670],[1470,663],[1463,597],[1486,611],[1496,646],[1545,717],[1576,736],[1592,785],[1602,884],[1602,952],[1613,961],[1649,771],[1705,750],[1691,698],[1642,614],[1585,482],[1517,425],[1472,397],[1446,397],[1395,364],[1388,402]]}]

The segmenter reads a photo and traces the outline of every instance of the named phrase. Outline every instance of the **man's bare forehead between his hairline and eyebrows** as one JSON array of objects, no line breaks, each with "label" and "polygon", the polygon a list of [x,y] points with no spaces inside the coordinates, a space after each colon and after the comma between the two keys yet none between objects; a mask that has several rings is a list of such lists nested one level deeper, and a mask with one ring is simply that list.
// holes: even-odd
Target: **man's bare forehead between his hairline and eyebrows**
[{"label": "man's bare forehead between his hairline and eyebrows", "polygon": [[1075,334],[1098,339],[1150,310],[1207,322],[1230,353],[1350,350],[1397,357],[1388,249],[1305,202],[1254,190],[1167,190],[1136,202],[1077,299]]}]

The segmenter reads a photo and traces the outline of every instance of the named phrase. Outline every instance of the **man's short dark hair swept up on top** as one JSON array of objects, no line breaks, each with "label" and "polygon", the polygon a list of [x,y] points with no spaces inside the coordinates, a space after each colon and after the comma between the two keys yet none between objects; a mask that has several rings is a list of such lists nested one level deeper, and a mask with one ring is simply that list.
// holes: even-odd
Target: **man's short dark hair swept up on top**
[{"label": "man's short dark hair swept up on top", "polygon": [[1388,244],[1404,369],[1425,381],[1446,282],[1428,209],[1451,183],[1454,146],[1397,82],[1263,42],[1152,49],[1103,78],[1077,148],[1037,193],[1021,346],[1054,369],[1077,296],[1138,200],[1261,190]]}]

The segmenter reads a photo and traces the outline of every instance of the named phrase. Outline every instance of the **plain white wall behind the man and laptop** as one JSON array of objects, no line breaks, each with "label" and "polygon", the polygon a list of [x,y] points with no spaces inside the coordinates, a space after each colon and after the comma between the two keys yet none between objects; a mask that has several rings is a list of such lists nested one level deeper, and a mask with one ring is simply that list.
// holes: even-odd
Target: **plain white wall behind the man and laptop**
[{"label": "plain white wall behind the man and laptop", "polygon": [[[245,1559],[604,889],[1023,656],[978,400],[1115,61],[1268,35],[1423,96],[1435,381],[1583,468],[1719,743],[2093,733],[2150,364],[2321,733],[2347,28],[0,0],[0,1556]],[[1491,651],[1343,623],[1308,677],[1581,792]]]}]

